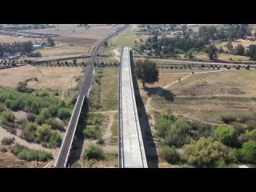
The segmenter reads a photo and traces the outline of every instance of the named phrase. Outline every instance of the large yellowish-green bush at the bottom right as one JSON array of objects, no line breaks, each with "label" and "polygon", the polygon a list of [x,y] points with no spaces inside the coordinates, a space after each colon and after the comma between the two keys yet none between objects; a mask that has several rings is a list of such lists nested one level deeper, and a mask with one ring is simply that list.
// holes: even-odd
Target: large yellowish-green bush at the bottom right
[{"label": "large yellowish-green bush at the bottom right", "polygon": [[186,161],[193,166],[213,167],[220,158],[225,162],[233,160],[230,148],[213,138],[199,138],[197,142],[192,140],[184,146],[184,150]]}]

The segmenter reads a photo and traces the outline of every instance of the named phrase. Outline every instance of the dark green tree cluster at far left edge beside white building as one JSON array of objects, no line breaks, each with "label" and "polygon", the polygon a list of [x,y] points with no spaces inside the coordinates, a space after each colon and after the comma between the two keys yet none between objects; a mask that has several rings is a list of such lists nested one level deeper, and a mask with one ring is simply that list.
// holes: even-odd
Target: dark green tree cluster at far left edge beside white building
[{"label": "dark green tree cluster at far left edge beside white building", "polygon": [[28,54],[33,50],[32,42],[13,42],[13,43],[0,43],[0,57],[3,56],[3,53],[22,53]]}]

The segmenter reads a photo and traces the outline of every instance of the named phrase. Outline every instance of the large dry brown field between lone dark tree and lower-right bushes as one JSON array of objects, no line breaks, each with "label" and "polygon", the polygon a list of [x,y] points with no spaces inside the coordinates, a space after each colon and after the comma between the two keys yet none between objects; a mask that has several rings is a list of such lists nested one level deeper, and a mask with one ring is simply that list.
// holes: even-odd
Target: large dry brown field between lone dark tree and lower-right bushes
[{"label": "large dry brown field between lone dark tree and lower-right bushes", "polygon": [[151,106],[208,122],[222,123],[220,114],[252,111],[256,106],[254,71],[193,74],[167,90],[174,95],[174,102],[157,97]]}]

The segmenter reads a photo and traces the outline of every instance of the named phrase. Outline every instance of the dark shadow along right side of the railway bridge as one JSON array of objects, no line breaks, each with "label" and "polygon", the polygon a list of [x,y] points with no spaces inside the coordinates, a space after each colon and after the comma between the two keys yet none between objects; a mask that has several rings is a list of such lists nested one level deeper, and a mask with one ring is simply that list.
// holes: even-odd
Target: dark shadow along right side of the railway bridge
[{"label": "dark shadow along right side of the railway bridge", "polygon": [[88,106],[87,100],[85,99],[85,101],[83,102],[81,114],[78,120],[77,130],[74,135],[74,142],[72,144],[70,158],[67,163],[67,165],[71,165],[72,167],[78,167],[76,162],[79,161],[83,152],[82,146],[84,141],[84,135],[82,133],[82,130],[84,130],[86,126],[86,118],[87,118],[88,112],[89,112],[89,106]]}]

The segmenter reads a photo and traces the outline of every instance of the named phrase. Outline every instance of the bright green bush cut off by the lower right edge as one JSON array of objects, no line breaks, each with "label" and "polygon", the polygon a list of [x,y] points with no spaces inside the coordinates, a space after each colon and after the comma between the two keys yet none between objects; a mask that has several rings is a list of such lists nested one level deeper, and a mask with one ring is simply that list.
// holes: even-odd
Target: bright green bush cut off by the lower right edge
[{"label": "bright green bush cut off by the lower right edge", "polygon": [[242,158],[246,162],[256,162],[256,142],[245,142],[241,149]]}]

